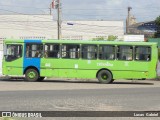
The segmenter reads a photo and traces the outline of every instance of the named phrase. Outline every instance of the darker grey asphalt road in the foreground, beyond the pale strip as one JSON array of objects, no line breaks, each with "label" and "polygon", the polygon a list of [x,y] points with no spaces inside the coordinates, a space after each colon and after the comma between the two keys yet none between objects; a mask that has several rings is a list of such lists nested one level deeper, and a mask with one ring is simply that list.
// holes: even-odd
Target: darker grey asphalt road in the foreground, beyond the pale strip
[{"label": "darker grey asphalt road in the foreground, beyond the pale strip", "polygon": [[0,110],[160,110],[160,88],[2,91]]}]

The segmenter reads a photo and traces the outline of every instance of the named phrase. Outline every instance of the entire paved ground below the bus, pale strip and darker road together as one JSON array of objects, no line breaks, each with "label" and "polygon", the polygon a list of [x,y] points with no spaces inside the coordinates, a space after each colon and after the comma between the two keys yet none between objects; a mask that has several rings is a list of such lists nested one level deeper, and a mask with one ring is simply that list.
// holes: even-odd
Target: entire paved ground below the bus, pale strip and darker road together
[{"label": "entire paved ground below the bus, pale strip and darker road together", "polygon": [[159,111],[160,81],[0,81],[0,111]]}]

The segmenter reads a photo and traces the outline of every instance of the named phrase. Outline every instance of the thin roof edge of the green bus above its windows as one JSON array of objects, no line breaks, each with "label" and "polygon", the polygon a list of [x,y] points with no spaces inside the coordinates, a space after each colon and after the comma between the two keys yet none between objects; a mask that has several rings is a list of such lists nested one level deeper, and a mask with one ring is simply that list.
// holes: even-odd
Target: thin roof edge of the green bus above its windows
[{"label": "thin roof edge of the green bus above its windows", "polygon": [[98,41],[98,40],[15,40],[7,39],[4,43],[64,43],[64,44],[115,44],[115,45],[157,45],[154,42],[124,42],[124,41]]}]

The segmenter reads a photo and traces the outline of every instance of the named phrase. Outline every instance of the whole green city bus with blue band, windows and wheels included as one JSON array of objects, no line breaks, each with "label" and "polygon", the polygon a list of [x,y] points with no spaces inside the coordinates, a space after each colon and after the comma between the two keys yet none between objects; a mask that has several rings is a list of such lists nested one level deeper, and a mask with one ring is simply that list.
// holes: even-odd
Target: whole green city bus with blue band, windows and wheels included
[{"label": "whole green city bus with blue band, windows and wheels included", "polygon": [[156,78],[156,43],[74,40],[5,40],[3,75],[27,81],[45,77],[95,79]]}]

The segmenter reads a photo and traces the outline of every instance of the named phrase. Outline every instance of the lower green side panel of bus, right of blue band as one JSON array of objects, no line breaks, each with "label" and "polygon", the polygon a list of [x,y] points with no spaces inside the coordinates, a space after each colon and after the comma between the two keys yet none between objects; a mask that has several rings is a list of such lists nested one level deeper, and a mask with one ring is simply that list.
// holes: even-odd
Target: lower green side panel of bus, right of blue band
[{"label": "lower green side panel of bus, right of blue band", "polygon": [[[96,78],[101,69],[108,69],[113,79],[155,78],[156,67],[150,62],[103,60],[41,59],[41,75],[47,77]],[[46,65],[46,66],[45,66]],[[118,67],[117,67],[118,66]],[[143,67],[142,67],[143,66]],[[46,72],[47,71],[47,72]]]}]

